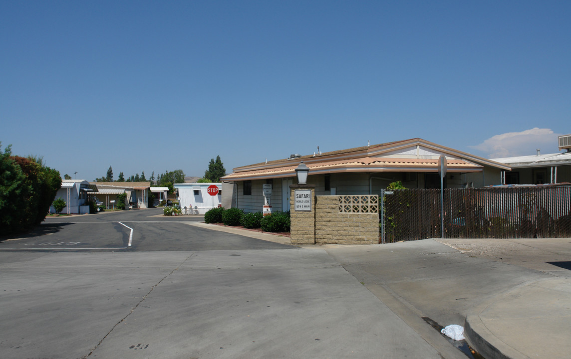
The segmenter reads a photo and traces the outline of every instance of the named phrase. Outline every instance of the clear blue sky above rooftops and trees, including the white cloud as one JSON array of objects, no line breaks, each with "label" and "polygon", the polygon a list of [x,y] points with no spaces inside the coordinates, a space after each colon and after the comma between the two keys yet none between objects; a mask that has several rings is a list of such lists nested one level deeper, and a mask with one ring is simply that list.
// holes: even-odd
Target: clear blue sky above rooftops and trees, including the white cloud
[{"label": "clear blue sky above rooftops and trees, including the white cloud", "polygon": [[0,0],[0,141],[94,180],[571,134],[569,1]]}]

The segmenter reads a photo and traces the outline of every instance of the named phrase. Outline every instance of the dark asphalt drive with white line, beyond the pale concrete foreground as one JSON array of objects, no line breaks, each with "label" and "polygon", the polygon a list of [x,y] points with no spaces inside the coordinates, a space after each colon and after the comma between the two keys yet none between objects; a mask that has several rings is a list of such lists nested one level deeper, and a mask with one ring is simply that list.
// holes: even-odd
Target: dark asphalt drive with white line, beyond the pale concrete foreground
[{"label": "dark asphalt drive with white line, beyond the pale concrete foreground", "polygon": [[288,245],[194,227],[202,216],[162,216],[162,208],[48,217],[35,231],[0,241],[0,251],[138,252],[278,249]]}]

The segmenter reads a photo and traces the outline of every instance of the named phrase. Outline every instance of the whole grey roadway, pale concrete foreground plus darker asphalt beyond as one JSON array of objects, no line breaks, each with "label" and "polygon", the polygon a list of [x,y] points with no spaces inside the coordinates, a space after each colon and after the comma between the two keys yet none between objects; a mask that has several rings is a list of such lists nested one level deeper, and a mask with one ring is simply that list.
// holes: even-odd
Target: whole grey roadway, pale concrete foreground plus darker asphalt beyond
[{"label": "whole grey roadway, pale concrete foreground plus darker asphalt beyond", "polygon": [[188,224],[200,220],[59,217],[1,241],[0,357],[465,358],[324,249]]}]

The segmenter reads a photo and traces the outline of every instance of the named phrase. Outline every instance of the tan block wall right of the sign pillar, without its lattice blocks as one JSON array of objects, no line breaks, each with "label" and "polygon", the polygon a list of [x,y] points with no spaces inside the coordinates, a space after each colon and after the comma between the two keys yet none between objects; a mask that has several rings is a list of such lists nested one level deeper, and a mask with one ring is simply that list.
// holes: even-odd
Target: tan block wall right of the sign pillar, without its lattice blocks
[{"label": "tan block wall right of the sign pillar, without its lattice blocks", "polygon": [[378,212],[340,213],[339,196],[317,196],[315,202],[315,243],[379,243]]}]

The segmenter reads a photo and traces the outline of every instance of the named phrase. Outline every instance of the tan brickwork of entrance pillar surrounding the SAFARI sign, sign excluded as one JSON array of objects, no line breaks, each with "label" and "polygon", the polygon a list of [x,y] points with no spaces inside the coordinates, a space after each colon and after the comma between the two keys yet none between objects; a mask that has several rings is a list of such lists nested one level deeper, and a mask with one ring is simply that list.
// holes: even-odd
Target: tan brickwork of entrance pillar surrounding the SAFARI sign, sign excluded
[{"label": "tan brickwork of entrance pillar surrounding the SAFARI sign, sign excluded", "polygon": [[[311,191],[311,211],[295,210],[295,191]],[[291,243],[315,244],[315,184],[294,184],[289,186],[289,213],[291,217]]]}]

